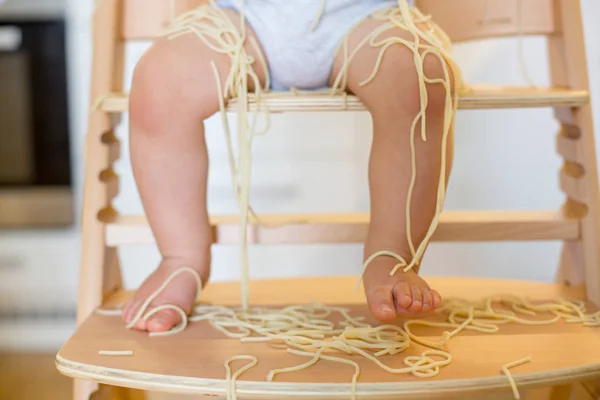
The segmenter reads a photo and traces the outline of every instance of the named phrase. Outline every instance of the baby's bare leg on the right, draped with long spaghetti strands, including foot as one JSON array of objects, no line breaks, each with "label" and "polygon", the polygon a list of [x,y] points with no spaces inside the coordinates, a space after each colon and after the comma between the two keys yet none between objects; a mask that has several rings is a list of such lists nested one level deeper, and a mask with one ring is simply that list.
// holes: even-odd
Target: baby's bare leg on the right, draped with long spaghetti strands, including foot
[{"label": "baby's bare leg on the right, draped with long spaghetti strands, including foot", "polygon": [[[350,52],[381,25],[368,19],[349,37]],[[389,30],[389,36],[410,39],[408,32]],[[333,76],[343,65],[343,52],[336,60]],[[348,73],[348,88],[371,113],[374,136],[369,165],[371,224],[365,243],[365,257],[379,250],[391,250],[407,262],[412,259],[406,234],[406,204],[411,182],[411,124],[420,111],[420,92],[413,52],[403,45],[390,47],[381,62],[376,78],[360,86],[370,76],[379,49],[366,45],[360,50]],[[444,77],[442,65],[434,56],[425,59],[429,78]],[[414,247],[423,241],[434,216],[440,179],[441,144],[444,122],[445,90],[440,84],[428,84],[427,142],[421,140],[417,125],[415,148],[417,177],[411,202],[411,232]],[[452,137],[448,142],[447,171],[450,170]],[[397,316],[416,315],[437,307],[441,298],[417,275],[416,270],[402,270],[390,276],[397,261],[376,258],[364,274],[367,300],[374,316],[391,320]]]}]

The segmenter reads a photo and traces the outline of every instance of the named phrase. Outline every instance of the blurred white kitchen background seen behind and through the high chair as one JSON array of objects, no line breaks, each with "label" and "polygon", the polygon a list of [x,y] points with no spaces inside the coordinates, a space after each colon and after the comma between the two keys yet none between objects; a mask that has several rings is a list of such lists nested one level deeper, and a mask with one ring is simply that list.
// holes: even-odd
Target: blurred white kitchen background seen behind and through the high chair
[{"label": "blurred white kitchen background seen behind and through the high chair", "polygon": [[[594,114],[600,121],[600,27],[597,24],[600,3],[582,0],[582,4]],[[81,189],[88,110],[91,12],[92,0],[67,1],[70,101],[78,189]],[[547,83],[548,70],[545,63],[539,61],[546,55],[544,40],[527,38],[524,43],[530,75],[538,84]],[[128,76],[145,46],[129,48]],[[517,64],[516,40],[458,46],[455,53],[470,82],[524,83]],[[209,138],[213,160],[210,209],[217,213],[235,212],[219,122],[213,119],[208,125],[213,132]],[[557,127],[549,110],[460,112],[456,124],[455,167],[446,208],[557,208],[563,199],[556,181],[560,166],[554,148]],[[311,118],[292,114],[275,116],[273,129],[258,141],[255,149],[255,207],[267,212],[367,210],[369,129],[369,118],[365,114],[319,114]],[[123,154],[127,154],[126,124],[119,133],[124,140]],[[600,144],[597,147],[600,150]],[[119,162],[118,170],[124,179],[117,206],[123,212],[140,212],[126,159]],[[35,262],[31,264],[32,273],[28,278],[11,282],[10,287],[19,288],[10,292],[11,299],[38,306],[73,305],[79,257],[77,232],[0,236],[0,247],[19,245],[22,250],[17,256],[33,257]],[[235,279],[238,273],[235,248],[218,248],[215,253],[213,279]],[[122,255],[127,267],[127,283],[131,286],[137,285],[158,260],[156,251],[148,254],[145,248],[129,248]],[[254,277],[355,274],[360,268],[361,248],[286,246],[256,248],[251,255]],[[436,275],[551,281],[557,257],[555,243],[434,244],[423,270]],[[4,271],[2,276],[10,277],[10,271]],[[17,278],[13,276],[13,279]],[[4,289],[0,283],[3,295],[7,293]]]}]

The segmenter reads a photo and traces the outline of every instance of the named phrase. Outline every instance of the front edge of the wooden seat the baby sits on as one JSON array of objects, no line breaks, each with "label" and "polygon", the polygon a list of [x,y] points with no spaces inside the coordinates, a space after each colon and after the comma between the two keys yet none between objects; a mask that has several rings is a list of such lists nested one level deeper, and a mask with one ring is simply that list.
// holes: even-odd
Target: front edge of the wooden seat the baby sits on
[{"label": "front edge of the wooden seat the baby sits on", "polygon": [[[326,92],[271,92],[265,99],[270,112],[366,111],[356,96],[332,96]],[[459,108],[580,107],[588,102],[589,93],[586,90],[475,85],[461,93]],[[100,102],[101,109],[110,113],[125,112],[128,105],[125,94],[110,95]],[[236,107],[235,99],[229,101],[230,111]],[[256,103],[251,102],[249,109],[255,110]]]}]

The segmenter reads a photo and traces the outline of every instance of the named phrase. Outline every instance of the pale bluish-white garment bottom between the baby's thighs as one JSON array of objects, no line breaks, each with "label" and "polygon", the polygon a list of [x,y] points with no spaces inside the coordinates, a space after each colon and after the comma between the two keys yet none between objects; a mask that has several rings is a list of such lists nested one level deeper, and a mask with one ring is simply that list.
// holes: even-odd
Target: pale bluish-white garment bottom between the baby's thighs
[{"label": "pale bluish-white garment bottom between the baby's thighs", "polygon": [[[240,11],[242,0],[218,0],[220,7]],[[413,0],[409,0],[413,3]],[[360,20],[397,0],[245,0],[244,14],[267,58],[272,90],[320,89],[327,86],[335,51]]]}]

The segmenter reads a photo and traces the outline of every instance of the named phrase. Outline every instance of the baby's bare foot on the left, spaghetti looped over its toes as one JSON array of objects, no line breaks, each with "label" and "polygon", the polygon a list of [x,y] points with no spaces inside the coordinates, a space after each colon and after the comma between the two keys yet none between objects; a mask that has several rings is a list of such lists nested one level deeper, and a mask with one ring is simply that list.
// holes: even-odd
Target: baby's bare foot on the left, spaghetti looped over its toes
[{"label": "baby's bare foot on the left, spaghetti looped over its toes", "polygon": [[[144,301],[150,297],[173,272],[183,267],[194,269],[198,272],[198,275],[200,275],[202,282],[206,284],[210,273],[208,267],[189,265],[178,259],[164,259],[156,271],[144,281],[135,295],[133,295],[125,305],[125,308],[123,309],[123,319],[125,322],[129,324],[135,318],[136,313]],[[196,279],[189,273],[182,273],[175,277],[162,293],[150,303],[148,310],[163,304],[173,304],[180,307],[189,315],[196,301],[196,291]],[[166,332],[181,322],[181,316],[176,311],[167,309],[159,311],[146,321],[143,319],[139,320],[134,328],[148,332]]]}]

